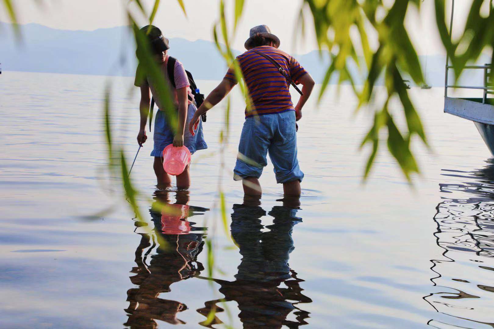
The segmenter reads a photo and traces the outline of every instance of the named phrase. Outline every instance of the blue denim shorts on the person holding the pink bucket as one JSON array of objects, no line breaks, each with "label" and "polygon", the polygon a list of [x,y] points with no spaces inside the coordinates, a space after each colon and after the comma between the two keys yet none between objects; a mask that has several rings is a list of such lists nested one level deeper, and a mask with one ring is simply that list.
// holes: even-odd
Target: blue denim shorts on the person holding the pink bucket
[{"label": "blue denim shorts on the person holding the pink bucket", "polygon": [[[207,148],[206,141],[204,140],[203,134],[203,122],[199,120],[199,128],[196,131],[196,135],[192,136],[189,132],[189,122],[192,120],[194,113],[197,108],[194,104],[190,104],[187,109],[187,122],[185,123],[184,131],[184,145],[189,149],[191,154],[200,149]],[[166,122],[165,112],[159,110],[156,113],[155,124],[154,124],[154,148],[151,152],[151,156],[161,157],[163,150],[166,146],[173,144],[173,130],[169,127]]]}]

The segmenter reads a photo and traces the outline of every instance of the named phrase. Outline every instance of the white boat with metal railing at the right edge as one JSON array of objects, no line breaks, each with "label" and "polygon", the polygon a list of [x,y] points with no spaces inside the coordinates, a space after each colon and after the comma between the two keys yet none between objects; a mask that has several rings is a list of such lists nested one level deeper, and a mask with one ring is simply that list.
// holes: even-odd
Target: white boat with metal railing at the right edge
[{"label": "white boat with metal railing at the right edge", "polygon": [[[450,31],[453,29],[453,9],[450,23]],[[451,33],[451,32],[450,32]],[[494,155],[494,98],[488,98],[488,95],[494,94],[494,83],[490,80],[492,66],[485,65],[467,65],[464,67],[467,70],[483,70],[484,83],[483,85],[450,85],[448,83],[448,71],[453,69],[449,65],[449,58],[446,58],[446,77],[444,86],[444,111],[449,114],[459,116],[461,118],[473,121],[477,130],[482,136],[487,147]],[[448,96],[448,88],[462,88],[471,90],[482,90],[482,98],[456,98]]]}]

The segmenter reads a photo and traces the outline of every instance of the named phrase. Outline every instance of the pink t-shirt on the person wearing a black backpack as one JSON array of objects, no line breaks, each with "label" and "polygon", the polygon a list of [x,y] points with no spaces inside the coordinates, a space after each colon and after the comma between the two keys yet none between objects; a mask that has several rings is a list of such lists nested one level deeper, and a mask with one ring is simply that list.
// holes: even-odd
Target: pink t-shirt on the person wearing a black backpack
[{"label": "pink t-shirt on the person wearing a black backpack", "polygon": [[[172,92],[173,103],[178,107],[178,97],[177,97],[177,89],[187,87],[188,97],[188,105],[192,103],[191,99],[194,99],[194,95],[192,94],[192,90],[190,89],[189,78],[187,77],[187,73],[185,72],[184,66],[178,60],[175,62],[174,74],[175,74],[175,86],[176,89],[173,88],[173,85],[170,82],[168,77],[168,70],[166,70],[166,65],[168,64],[169,56],[166,56],[165,62],[161,64],[161,70],[163,75],[165,76],[165,81],[169,84],[170,90]],[[135,81],[134,85],[137,87],[149,87],[151,89],[151,93],[153,97],[156,95],[156,89],[154,88],[153,82],[148,76],[144,76],[140,66],[137,67],[137,71],[135,73]],[[157,97],[154,97],[156,106],[159,109],[164,108],[164,104],[160,104],[160,101]]]}]

